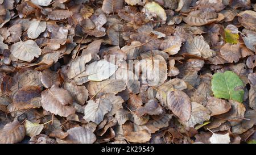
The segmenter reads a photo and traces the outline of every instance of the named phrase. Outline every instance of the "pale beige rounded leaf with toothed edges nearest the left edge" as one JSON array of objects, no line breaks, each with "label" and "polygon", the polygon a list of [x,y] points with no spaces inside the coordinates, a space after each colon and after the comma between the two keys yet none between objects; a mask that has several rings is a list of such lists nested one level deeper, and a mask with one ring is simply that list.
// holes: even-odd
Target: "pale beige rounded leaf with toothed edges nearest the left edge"
[{"label": "pale beige rounded leaf with toothed edges nearest the left edge", "polygon": [[11,46],[11,54],[19,60],[30,62],[41,55],[41,49],[35,41],[19,41]]}]

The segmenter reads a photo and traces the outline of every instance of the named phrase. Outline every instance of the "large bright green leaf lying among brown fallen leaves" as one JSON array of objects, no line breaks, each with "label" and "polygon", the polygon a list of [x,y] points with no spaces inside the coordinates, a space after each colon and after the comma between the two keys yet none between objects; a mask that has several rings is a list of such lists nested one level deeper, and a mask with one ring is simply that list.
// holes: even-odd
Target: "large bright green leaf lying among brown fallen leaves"
[{"label": "large bright green leaf lying among brown fallen leaves", "polygon": [[236,73],[231,71],[213,75],[212,91],[216,98],[243,101],[243,82]]}]

